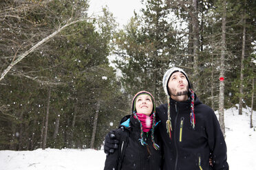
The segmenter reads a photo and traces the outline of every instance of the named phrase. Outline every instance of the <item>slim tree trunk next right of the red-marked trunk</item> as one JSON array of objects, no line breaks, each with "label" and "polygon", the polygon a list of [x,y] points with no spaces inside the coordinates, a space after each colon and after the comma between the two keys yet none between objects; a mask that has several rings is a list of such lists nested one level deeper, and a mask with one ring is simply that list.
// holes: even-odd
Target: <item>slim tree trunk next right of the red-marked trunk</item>
[{"label": "slim tree trunk next right of the red-marked trunk", "polygon": [[242,58],[241,58],[241,72],[240,72],[240,86],[239,86],[239,109],[238,113],[242,114],[243,108],[243,81],[244,81],[244,50],[245,50],[245,41],[246,41],[246,19],[244,19],[243,15],[243,23],[244,23],[244,30],[243,30],[243,42],[242,42]]}]

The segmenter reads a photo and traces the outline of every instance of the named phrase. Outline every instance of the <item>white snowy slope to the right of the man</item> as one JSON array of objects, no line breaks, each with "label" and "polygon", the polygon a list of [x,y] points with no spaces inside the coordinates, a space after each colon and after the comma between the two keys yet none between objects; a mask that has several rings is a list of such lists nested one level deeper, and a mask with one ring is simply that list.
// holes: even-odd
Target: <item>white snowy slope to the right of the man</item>
[{"label": "white snowy slope to the right of the man", "polygon": [[225,111],[226,145],[231,170],[256,170],[256,112],[253,112],[253,128],[250,128],[250,108],[243,108],[238,115],[236,108]]}]

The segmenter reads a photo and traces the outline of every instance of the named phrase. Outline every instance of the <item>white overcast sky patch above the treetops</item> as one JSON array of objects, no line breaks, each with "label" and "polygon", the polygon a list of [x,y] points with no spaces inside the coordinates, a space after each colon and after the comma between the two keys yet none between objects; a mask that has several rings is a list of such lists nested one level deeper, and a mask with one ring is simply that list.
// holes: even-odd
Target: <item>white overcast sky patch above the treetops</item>
[{"label": "white overcast sky patch above the treetops", "polygon": [[140,0],[90,0],[89,14],[100,14],[106,5],[120,26],[127,24],[131,16],[134,16],[134,10],[139,12],[142,7]]}]

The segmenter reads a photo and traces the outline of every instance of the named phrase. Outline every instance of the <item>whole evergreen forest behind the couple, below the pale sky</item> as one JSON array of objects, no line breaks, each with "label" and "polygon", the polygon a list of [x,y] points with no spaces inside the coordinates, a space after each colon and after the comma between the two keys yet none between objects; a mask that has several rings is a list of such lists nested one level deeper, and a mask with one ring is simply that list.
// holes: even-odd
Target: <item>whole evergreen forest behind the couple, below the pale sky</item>
[{"label": "whole evergreen forest behind the couple, below the pale sky", "polygon": [[120,27],[108,8],[90,16],[88,0],[0,1],[1,150],[100,149],[138,91],[167,102],[172,66],[222,132],[224,109],[255,110],[255,0],[140,2]]}]

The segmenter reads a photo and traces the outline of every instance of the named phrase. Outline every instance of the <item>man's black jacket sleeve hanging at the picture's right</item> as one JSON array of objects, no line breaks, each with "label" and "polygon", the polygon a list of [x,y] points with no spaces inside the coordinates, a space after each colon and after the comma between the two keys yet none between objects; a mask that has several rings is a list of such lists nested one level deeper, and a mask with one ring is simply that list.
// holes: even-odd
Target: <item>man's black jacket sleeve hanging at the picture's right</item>
[{"label": "man's black jacket sleeve hanging at the picture's right", "polygon": [[209,115],[206,117],[206,133],[208,135],[211,157],[213,158],[213,169],[228,170],[226,142],[220,129],[220,123],[211,108],[209,108],[208,112]]}]

